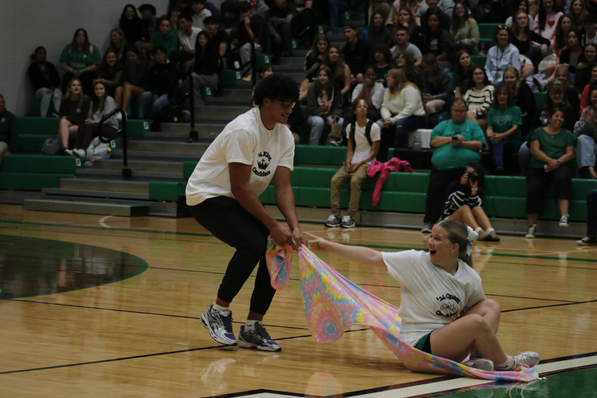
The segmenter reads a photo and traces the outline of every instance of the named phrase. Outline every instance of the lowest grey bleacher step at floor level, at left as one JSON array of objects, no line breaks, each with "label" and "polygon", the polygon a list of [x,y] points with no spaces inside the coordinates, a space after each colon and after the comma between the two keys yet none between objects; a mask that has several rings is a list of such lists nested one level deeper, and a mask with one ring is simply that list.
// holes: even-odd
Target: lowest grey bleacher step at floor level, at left
[{"label": "lowest grey bleacher step at floor level, at left", "polygon": [[149,209],[147,209],[147,206],[145,205],[125,205],[106,202],[78,202],[75,200],[25,199],[23,200],[23,208],[25,210],[36,211],[120,215],[124,217],[136,217],[139,215],[147,215],[149,213]]}]

